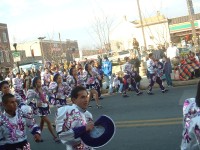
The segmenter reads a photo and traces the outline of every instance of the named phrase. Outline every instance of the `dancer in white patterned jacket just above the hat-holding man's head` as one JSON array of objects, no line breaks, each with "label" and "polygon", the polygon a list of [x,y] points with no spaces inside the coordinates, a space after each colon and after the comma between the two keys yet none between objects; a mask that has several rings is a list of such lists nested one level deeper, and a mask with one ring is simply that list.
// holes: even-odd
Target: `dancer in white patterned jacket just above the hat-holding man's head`
[{"label": "dancer in white patterned jacket just above the hat-holding man's head", "polygon": [[76,86],[85,87],[84,76],[82,72],[79,72],[75,67],[70,68],[69,75],[67,76],[67,83],[73,89]]}]

